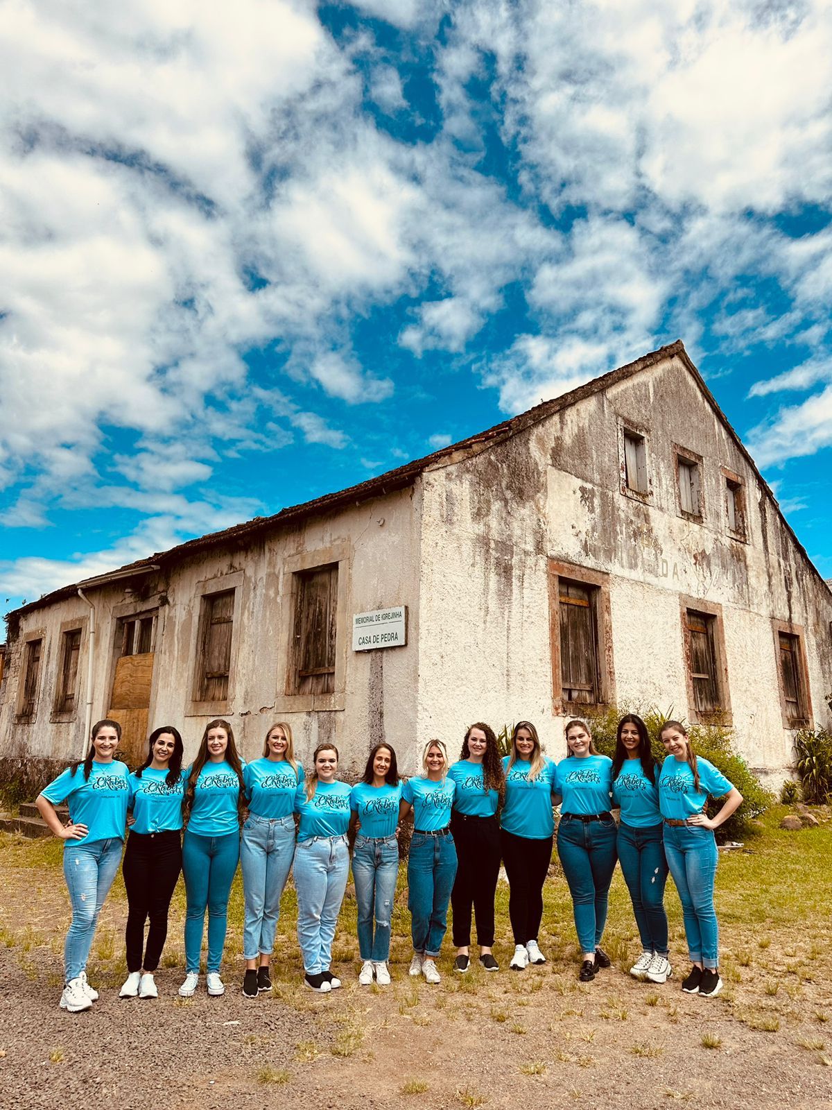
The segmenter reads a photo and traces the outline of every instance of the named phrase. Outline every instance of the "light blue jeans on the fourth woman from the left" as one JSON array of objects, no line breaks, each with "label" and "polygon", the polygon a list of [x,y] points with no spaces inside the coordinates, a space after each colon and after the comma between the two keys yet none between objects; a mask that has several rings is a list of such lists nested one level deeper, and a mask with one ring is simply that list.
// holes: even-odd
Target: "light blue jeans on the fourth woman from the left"
[{"label": "light blue jeans on the fourth woman from the left", "polygon": [[294,817],[257,817],[250,814],[240,839],[243,869],[243,957],[271,956],[281,916],[281,895],[295,855]]}]

